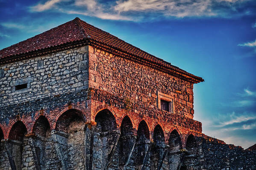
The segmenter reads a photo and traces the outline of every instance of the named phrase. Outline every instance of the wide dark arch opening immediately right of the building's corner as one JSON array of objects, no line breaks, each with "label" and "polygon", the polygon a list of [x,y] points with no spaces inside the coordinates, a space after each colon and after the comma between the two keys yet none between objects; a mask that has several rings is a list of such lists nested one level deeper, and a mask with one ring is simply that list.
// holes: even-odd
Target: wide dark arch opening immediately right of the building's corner
[{"label": "wide dark arch opening immediately right of the building's corner", "polygon": [[98,112],[94,120],[97,122],[97,127],[100,128],[102,132],[117,129],[115,116],[109,109],[103,109]]}]

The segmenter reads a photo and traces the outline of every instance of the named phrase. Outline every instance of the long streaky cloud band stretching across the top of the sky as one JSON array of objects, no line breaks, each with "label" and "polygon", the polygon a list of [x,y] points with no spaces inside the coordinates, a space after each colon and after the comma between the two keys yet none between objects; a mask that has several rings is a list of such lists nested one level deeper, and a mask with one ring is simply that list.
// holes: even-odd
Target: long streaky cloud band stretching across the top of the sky
[{"label": "long streaky cloud band stretching across the top of the sky", "polygon": [[[253,0],[48,0],[30,7],[31,12],[55,10],[108,20],[144,20],[156,17],[232,17],[254,11]],[[256,6],[256,4],[255,4]],[[252,8],[252,9],[250,9]]]}]

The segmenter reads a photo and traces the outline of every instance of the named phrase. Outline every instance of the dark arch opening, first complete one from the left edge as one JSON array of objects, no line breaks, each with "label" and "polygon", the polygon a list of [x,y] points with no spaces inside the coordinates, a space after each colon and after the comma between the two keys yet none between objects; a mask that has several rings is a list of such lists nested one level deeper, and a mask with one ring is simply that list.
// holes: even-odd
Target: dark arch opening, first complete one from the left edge
[{"label": "dark arch opening, first complete one from the left edge", "polygon": [[23,141],[24,135],[26,135],[26,133],[27,129],[25,124],[22,121],[16,121],[10,129],[8,138],[16,141]]}]

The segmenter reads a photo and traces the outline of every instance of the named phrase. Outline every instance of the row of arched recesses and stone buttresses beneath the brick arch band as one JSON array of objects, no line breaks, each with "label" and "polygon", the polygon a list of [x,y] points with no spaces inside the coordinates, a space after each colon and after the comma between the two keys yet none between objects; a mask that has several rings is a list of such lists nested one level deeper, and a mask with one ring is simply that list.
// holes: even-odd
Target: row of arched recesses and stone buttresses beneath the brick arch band
[{"label": "row of arched recesses and stone buttresses beneath the brick arch band", "polygon": [[[68,109],[56,119],[52,129],[47,117],[40,115],[32,135],[21,120],[16,121],[8,140],[0,145],[0,170],[176,170],[186,155],[177,130],[165,142],[157,124],[151,140],[145,120],[135,128],[126,115],[118,125],[108,109],[97,112],[93,125],[78,109]],[[2,129],[0,138],[4,138]],[[187,147],[193,148],[193,143]]]}]

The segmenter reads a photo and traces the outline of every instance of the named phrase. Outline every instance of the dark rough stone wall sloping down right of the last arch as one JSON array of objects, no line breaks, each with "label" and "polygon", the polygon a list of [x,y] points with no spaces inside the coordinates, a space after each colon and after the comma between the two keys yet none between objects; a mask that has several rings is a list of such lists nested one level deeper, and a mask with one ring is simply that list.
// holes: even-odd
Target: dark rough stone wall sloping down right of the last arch
[{"label": "dark rough stone wall sloping down right of the last arch", "polygon": [[[220,144],[202,137],[188,139],[188,154],[180,170],[255,170],[256,151]],[[194,141],[193,141],[194,140]]]}]

